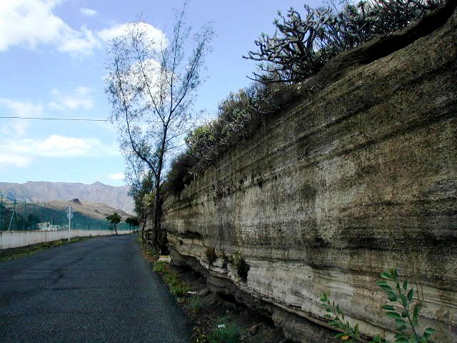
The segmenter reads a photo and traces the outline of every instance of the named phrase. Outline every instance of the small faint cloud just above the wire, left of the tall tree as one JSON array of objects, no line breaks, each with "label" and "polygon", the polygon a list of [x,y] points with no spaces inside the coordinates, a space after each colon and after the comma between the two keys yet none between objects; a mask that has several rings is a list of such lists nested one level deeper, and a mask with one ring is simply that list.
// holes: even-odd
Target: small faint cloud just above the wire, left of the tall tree
[{"label": "small faint cloud just above the wire, left of the tall tree", "polygon": [[50,109],[91,109],[94,101],[90,97],[91,89],[88,87],[78,87],[72,94],[62,94],[59,89],[53,89],[51,95],[54,100],[49,103]]}]

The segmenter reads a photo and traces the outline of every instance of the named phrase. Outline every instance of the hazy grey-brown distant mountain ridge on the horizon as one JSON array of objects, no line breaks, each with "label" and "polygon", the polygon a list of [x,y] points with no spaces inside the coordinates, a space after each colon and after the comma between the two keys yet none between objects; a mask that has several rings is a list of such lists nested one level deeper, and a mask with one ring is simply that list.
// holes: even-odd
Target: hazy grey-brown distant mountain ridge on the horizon
[{"label": "hazy grey-brown distant mountain ridge on the horizon", "polygon": [[128,186],[114,187],[101,182],[94,184],[66,182],[26,182],[14,184],[0,182],[0,192],[18,200],[31,202],[50,202],[52,200],[69,201],[80,199],[81,202],[107,204],[115,209],[132,214],[134,201],[129,197]]}]

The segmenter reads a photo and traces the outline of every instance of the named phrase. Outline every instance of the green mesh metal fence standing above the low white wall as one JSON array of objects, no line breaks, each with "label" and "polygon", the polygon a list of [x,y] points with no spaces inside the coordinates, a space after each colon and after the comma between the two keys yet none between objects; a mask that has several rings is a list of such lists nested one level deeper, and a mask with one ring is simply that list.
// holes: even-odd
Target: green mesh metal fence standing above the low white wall
[{"label": "green mesh metal fence standing above the low white wall", "polygon": [[[0,193],[0,231],[68,229],[66,209],[46,207],[45,203],[26,202]],[[72,229],[112,230],[113,225],[106,219],[94,219],[79,212],[73,212]],[[121,222],[118,230],[131,229]]]}]

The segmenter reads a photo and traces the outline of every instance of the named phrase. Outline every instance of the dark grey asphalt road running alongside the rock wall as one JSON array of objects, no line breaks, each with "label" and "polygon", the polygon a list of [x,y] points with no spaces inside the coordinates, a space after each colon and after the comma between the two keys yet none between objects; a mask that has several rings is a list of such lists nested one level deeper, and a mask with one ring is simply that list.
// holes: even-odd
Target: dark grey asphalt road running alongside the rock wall
[{"label": "dark grey asphalt road running alongside the rock wall", "polygon": [[0,263],[0,342],[189,343],[185,314],[135,239],[91,239]]}]

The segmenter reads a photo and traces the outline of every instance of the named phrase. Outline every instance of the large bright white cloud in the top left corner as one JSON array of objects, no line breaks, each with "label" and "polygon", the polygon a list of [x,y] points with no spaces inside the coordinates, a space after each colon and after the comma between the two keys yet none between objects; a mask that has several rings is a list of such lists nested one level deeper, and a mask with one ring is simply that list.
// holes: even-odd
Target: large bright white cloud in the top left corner
[{"label": "large bright white cloud in the top left corner", "polygon": [[59,51],[90,54],[100,46],[94,34],[84,26],[72,29],[53,9],[60,0],[1,0],[0,51],[22,44],[32,49],[52,44]]}]

